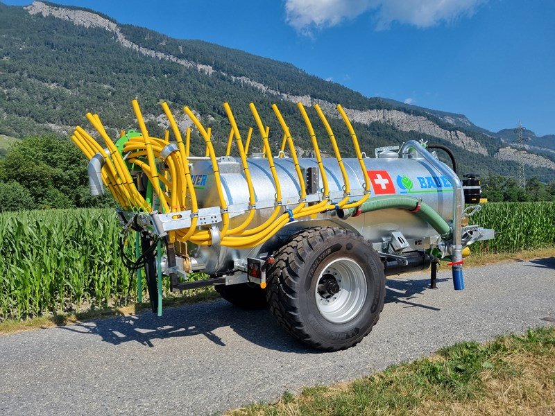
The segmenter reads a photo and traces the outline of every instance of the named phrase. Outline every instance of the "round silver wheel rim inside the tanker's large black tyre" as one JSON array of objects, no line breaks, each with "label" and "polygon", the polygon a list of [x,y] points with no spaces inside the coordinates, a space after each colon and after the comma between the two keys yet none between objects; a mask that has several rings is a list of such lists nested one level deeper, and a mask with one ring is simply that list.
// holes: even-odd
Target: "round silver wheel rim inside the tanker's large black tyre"
[{"label": "round silver wheel rim inside the tanker's large black tyre", "polygon": [[[322,288],[327,281],[332,285],[335,279],[339,291],[327,292]],[[334,324],[342,324],[355,318],[359,314],[366,300],[366,277],[364,271],[356,261],[341,257],[327,266],[316,281],[316,306],[321,315]],[[336,290],[336,289],[335,289]]]}]

